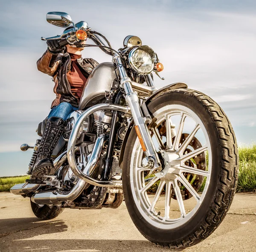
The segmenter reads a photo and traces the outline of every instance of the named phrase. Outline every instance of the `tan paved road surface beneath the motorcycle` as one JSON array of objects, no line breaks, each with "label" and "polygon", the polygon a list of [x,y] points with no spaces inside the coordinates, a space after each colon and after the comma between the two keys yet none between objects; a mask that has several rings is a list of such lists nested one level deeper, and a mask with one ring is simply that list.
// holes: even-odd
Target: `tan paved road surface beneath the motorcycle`
[{"label": "tan paved road surface beneath the motorcycle", "polygon": [[[29,200],[0,193],[0,252],[162,252],[118,209],[65,209],[54,220],[34,217]],[[206,240],[184,252],[255,252],[256,194],[236,194],[224,221]]]}]

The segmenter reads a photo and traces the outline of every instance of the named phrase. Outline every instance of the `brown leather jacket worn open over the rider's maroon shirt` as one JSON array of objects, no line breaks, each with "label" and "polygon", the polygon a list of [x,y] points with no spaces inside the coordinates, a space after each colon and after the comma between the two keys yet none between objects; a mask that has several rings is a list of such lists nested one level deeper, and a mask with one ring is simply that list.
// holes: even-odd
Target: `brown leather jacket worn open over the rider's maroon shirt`
[{"label": "brown leather jacket worn open over the rider's maroon shirt", "polygon": [[[92,58],[80,58],[77,62],[86,78],[88,78],[93,68],[99,64]],[[56,94],[56,98],[52,102],[51,108],[61,102],[68,102],[72,106],[78,107],[79,99],[71,93],[70,84],[67,81],[66,75],[71,68],[70,55],[67,52],[64,55],[52,54],[47,49],[36,64],[39,71],[52,76],[55,82],[53,91]]]}]

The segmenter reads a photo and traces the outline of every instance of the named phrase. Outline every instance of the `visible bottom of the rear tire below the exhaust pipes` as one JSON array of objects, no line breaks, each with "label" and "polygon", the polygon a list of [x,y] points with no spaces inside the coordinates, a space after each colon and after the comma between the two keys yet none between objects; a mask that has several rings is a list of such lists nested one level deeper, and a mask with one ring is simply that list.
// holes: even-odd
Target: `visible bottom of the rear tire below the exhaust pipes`
[{"label": "visible bottom of the rear tire below the exhaust pipes", "polygon": [[52,220],[62,213],[64,208],[58,208],[57,206],[49,207],[47,205],[38,205],[30,200],[31,209],[36,217],[41,220]]}]

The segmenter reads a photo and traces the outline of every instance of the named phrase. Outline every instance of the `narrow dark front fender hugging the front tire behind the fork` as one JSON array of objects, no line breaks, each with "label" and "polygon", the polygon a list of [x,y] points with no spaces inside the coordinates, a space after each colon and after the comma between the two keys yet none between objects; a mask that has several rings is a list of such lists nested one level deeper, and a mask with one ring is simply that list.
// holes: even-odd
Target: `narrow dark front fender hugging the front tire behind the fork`
[{"label": "narrow dark front fender hugging the front tire behind the fork", "polygon": [[[154,100],[154,98],[158,97],[159,95],[161,95],[161,93],[165,93],[168,92],[169,90],[173,90],[173,89],[177,89],[177,88],[188,88],[186,83],[183,82],[176,82],[173,84],[169,84],[165,87],[160,88],[159,90],[157,90],[156,92],[154,92],[151,96],[149,96],[146,100],[145,100],[145,105],[147,107],[148,103],[152,100]],[[145,113],[145,111],[143,111],[143,113]],[[120,156],[119,156],[119,167],[121,167],[122,164],[122,160],[123,160],[123,155],[124,155],[124,151],[125,151],[125,144],[127,142],[128,136],[131,133],[131,129],[134,125],[134,121],[131,120],[131,122],[128,125],[128,129],[125,133],[125,138],[123,140],[123,144],[122,144],[122,148],[121,148],[121,152],[120,152]]]}]

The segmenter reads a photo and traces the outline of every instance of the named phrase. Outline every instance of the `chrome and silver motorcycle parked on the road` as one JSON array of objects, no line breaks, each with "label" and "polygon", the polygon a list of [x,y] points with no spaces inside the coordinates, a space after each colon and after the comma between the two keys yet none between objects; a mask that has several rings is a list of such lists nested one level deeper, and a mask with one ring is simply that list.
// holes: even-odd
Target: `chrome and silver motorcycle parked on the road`
[{"label": "chrome and silver motorcycle parked on the road", "polygon": [[[42,40],[97,46],[112,62],[94,68],[79,110],[65,122],[52,154],[55,174],[10,191],[29,197],[43,220],[65,208],[115,209],[125,199],[135,226],[153,243],[185,248],[207,238],[227,214],[238,179],[236,137],[224,111],[185,83],[155,87],[152,73],[160,77],[163,64],[139,37],[127,36],[115,50],[67,13],[49,12],[47,21],[70,29]],[[82,44],[86,38],[95,44]],[[44,126],[45,120],[39,136]],[[28,174],[40,141],[20,147],[33,148]]]}]

